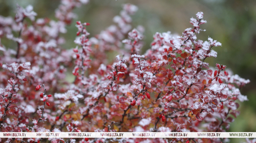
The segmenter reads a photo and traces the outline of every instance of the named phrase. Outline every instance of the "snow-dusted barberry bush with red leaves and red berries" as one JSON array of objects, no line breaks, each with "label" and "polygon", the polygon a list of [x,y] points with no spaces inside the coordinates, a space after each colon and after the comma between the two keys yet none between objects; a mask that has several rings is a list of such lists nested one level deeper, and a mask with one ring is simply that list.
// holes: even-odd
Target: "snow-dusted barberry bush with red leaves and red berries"
[{"label": "snow-dusted barberry bush with red leaves and red berries", "polygon": [[[197,39],[203,12],[181,35],[156,33],[141,54],[144,28],[132,28],[137,6],[125,4],[115,24],[92,36],[76,22],[75,48],[64,49],[66,26],[87,0],[62,0],[56,19],[31,5],[0,16],[1,132],[225,132],[248,100],[249,83],[227,66],[209,67],[222,44]],[[1,41],[0,41],[1,42]],[[119,53],[112,56],[111,53]],[[109,59],[113,60],[109,60]],[[67,76],[75,76],[72,82]],[[8,138],[6,142],[228,142],[221,138]]]}]

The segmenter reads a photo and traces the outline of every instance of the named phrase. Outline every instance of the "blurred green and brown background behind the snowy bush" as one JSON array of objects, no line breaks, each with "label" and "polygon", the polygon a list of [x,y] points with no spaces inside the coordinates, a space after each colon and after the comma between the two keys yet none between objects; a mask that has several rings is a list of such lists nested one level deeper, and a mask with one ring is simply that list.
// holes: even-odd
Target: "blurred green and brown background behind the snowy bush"
[{"label": "blurred green and brown background behind the snowy bush", "polygon": [[[54,10],[59,0],[3,0],[0,1],[0,15],[15,16],[16,4],[26,7],[34,6],[37,18],[54,18]],[[211,66],[216,63],[227,65],[234,74],[250,79],[241,89],[249,101],[240,104],[240,116],[231,123],[229,132],[256,132],[256,1],[255,0],[92,0],[87,5],[75,9],[78,14],[74,20],[89,22],[88,31],[91,35],[99,34],[101,30],[113,24],[112,19],[119,14],[122,4],[131,3],[138,6],[138,12],[132,16],[133,27],[142,25],[145,28],[146,51],[152,42],[155,32],[171,31],[182,34],[184,29],[192,27],[191,17],[196,17],[198,11],[204,12],[207,24],[201,26],[202,31],[198,39],[207,40],[208,36],[220,41],[221,47],[217,58],[207,58]],[[77,28],[75,22],[67,27],[63,34],[67,43],[65,48],[75,47],[74,37]],[[244,142],[245,139],[231,139],[230,142]]]}]

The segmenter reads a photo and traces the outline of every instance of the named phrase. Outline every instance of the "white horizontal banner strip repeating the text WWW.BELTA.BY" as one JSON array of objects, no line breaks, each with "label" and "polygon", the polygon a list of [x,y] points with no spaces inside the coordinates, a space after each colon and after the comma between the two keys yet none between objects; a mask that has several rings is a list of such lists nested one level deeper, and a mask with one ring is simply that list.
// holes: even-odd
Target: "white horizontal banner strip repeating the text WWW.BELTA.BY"
[{"label": "white horizontal banner strip repeating the text WWW.BELTA.BY", "polygon": [[0,138],[256,138],[256,132],[0,132]]}]

